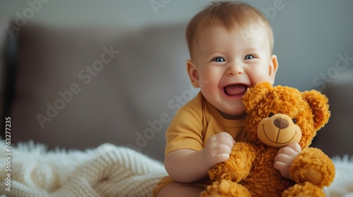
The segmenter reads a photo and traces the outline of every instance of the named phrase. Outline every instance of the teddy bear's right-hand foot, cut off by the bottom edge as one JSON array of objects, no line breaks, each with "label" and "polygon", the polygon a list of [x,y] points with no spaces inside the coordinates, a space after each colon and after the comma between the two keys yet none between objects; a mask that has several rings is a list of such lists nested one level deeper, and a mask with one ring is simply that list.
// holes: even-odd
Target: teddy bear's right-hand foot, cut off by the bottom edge
[{"label": "teddy bear's right-hand foot, cut off by the bottom edge", "polygon": [[314,184],[305,182],[304,184],[295,184],[282,193],[282,197],[325,197],[322,189]]}]

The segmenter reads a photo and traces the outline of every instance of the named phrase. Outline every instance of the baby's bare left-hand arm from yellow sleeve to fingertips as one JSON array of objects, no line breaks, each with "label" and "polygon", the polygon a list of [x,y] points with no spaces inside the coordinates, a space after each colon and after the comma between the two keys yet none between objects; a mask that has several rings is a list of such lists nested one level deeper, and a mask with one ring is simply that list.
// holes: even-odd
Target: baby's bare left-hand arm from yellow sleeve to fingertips
[{"label": "baby's bare left-hand arm from yellow sleeve to fingertips", "polygon": [[227,132],[211,136],[201,151],[179,149],[164,159],[169,177],[177,182],[191,183],[208,176],[208,170],[229,158],[235,141]]}]

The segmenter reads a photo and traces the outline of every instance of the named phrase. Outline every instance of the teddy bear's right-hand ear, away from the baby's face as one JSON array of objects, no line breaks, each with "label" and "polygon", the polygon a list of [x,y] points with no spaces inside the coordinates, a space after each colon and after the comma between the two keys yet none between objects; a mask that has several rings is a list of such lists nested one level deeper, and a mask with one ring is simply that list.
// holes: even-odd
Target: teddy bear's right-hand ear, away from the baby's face
[{"label": "teddy bear's right-hand ear, away from the baby's face", "polygon": [[313,110],[314,127],[318,130],[328,122],[328,118],[330,117],[328,98],[316,90],[304,91],[303,95]]}]

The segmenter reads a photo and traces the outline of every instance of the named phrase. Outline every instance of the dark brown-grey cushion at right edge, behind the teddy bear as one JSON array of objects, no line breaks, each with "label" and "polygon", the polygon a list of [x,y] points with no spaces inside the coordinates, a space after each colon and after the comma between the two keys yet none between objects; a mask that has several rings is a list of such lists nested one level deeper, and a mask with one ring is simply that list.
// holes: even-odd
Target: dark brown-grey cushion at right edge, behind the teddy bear
[{"label": "dark brown-grey cushion at right edge, behind the teddy bear", "polygon": [[348,68],[327,84],[323,94],[328,96],[331,116],[313,141],[313,146],[330,155],[353,155],[353,69]]}]

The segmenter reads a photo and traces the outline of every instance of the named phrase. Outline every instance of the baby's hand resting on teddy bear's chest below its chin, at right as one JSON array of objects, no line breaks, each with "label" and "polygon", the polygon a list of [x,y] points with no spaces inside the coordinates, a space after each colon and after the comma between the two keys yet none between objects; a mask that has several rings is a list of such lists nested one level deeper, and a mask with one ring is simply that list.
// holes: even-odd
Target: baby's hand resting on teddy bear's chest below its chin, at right
[{"label": "baby's hand resting on teddy bear's chest below its chin, at right", "polygon": [[301,147],[297,142],[288,144],[278,150],[275,156],[273,167],[280,170],[282,177],[289,179],[289,167],[292,165],[294,158],[301,153]]}]

